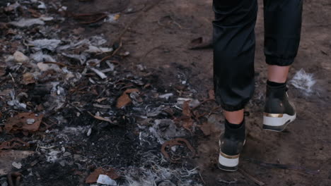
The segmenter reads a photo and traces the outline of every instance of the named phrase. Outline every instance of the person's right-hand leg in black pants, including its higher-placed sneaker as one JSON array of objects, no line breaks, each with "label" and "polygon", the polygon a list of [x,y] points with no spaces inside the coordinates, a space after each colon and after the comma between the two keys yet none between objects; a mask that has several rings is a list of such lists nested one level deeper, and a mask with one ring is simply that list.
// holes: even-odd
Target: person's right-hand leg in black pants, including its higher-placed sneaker
[{"label": "person's right-hand leg in black pants, including its higher-placed sneaker", "polygon": [[286,80],[298,52],[303,0],[264,0],[264,5],[268,81],[263,128],[279,132],[296,118]]}]

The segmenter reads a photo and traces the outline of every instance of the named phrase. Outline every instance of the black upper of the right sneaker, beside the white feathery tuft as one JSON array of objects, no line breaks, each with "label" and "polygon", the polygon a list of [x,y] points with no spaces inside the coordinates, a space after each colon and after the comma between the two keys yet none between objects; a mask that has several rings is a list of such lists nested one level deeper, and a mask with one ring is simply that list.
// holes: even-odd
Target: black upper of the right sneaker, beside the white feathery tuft
[{"label": "black upper of the right sneaker, beside the white feathery tuft", "polygon": [[265,100],[265,113],[286,113],[294,116],[296,113],[286,94],[286,85],[272,87],[267,85],[267,97]]}]

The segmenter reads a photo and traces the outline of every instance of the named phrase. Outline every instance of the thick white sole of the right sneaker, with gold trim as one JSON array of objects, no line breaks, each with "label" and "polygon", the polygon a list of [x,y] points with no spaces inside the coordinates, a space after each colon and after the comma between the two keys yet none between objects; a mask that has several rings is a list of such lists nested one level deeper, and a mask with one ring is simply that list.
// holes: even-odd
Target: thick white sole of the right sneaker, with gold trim
[{"label": "thick white sole of the right sneaker, with gold trim", "polygon": [[[269,116],[266,116],[269,115]],[[270,116],[272,114],[265,114],[263,116],[263,126],[262,128],[265,130],[272,130],[276,132],[281,132],[286,128],[286,125],[293,122],[296,119],[296,114],[294,116],[288,115],[286,113],[282,114],[282,116]],[[277,114],[276,114],[277,115]]]}]

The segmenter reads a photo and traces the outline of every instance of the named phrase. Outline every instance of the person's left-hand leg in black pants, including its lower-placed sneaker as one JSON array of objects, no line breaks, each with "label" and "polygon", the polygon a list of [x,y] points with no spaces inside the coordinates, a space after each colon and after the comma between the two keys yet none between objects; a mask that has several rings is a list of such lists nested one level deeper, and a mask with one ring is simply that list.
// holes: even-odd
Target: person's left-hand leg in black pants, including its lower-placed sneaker
[{"label": "person's left-hand leg in black pants, including its lower-placed sneaker", "polygon": [[257,0],[214,0],[214,91],[226,118],[219,168],[236,171],[245,143],[243,109],[254,92]]}]

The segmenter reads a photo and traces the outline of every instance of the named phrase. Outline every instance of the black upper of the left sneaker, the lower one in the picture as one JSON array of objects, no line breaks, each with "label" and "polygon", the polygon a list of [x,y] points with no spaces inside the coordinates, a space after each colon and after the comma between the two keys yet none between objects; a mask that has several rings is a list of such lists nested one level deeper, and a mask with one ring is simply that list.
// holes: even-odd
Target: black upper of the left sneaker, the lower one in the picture
[{"label": "black upper of the left sneaker, the lower one in the picture", "polygon": [[225,130],[221,134],[221,152],[228,156],[240,154],[245,142],[245,120],[240,128],[230,128],[226,121]]}]

